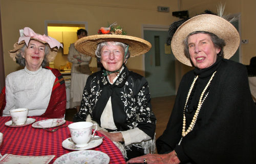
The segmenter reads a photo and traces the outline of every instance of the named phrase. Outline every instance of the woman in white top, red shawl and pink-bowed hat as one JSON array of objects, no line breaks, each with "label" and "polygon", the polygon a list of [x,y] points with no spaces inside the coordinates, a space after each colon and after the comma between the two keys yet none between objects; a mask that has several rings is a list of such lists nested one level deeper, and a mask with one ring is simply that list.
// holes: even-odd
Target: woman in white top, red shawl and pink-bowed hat
[{"label": "woman in white top, red shawl and pink-bowed hat", "polygon": [[28,116],[64,117],[64,80],[57,69],[46,68],[60,47],[62,44],[54,38],[36,34],[28,27],[20,30],[20,38],[9,54],[24,69],[6,77],[6,88],[2,92],[6,94],[3,116],[10,116],[11,109],[28,108]]}]

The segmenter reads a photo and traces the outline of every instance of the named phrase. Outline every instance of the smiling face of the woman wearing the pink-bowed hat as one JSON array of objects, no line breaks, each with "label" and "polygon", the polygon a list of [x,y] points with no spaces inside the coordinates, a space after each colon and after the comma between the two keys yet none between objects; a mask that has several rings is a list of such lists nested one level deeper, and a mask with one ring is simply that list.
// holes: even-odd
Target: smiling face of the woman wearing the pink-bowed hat
[{"label": "smiling face of the woman wearing the pink-bowed hat", "polygon": [[25,58],[26,67],[30,71],[36,71],[42,65],[45,55],[45,45],[36,40],[30,40],[28,47],[21,54]]}]

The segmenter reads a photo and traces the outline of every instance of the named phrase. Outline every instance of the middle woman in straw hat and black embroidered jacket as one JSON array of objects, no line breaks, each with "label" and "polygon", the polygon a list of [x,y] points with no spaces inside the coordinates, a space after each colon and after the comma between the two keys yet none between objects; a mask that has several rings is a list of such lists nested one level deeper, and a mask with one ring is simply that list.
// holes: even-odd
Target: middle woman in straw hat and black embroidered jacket
[{"label": "middle woman in straw hat and black embroidered jacket", "polygon": [[127,159],[155,151],[156,118],[151,110],[148,82],[125,66],[129,57],[146,53],[151,44],[118,34],[87,36],[75,47],[97,57],[104,70],[90,75],[84,88],[77,121],[99,124]]}]

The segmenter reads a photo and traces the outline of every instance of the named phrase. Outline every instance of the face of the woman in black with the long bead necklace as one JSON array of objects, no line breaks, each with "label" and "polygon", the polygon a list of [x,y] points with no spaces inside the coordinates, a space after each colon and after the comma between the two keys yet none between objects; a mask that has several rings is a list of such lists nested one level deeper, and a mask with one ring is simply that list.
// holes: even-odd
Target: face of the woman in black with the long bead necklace
[{"label": "face of the woman in black with the long bead necklace", "polygon": [[198,33],[188,37],[188,51],[194,66],[204,69],[216,62],[220,48],[214,46],[208,34]]}]

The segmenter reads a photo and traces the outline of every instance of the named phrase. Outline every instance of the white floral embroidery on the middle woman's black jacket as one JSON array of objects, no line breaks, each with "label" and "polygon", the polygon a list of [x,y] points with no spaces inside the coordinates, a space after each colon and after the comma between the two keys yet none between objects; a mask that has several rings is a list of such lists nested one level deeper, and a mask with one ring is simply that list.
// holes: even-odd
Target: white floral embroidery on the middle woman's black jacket
[{"label": "white floral embroidery on the middle woman's black jacket", "polygon": [[[133,77],[130,76],[128,78],[126,76],[127,73],[122,71],[120,77],[113,84],[113,87],[122,85],[122,87],[120,87],[120,100],[118,100],[118,103],[123,104],[123,110],[127,115],[126,120],[128,128],[133,129],[137,127],[140,122],[151,123],[151,115],[153,115],[153,113],[150,108],[151,105],[148,102],[150,98],[148,85],[145,84],[138,91],[138,80],[136,79],[135,85]],[[100,85],[109,85],[108,79],[103,76],[103,74],[100,76],[100,79],[98,78],[98,76],[93,77],[90,82],[88,82],[90,87],[87,88],[88,90],[84,91],[84,104],[81,105],[82,110],[79,111],[80,114],[85,115],[84,117],[86,117],[88,113],[92,116],[92,110],[102,96],[102,87]],[[134,95],[134,93],[136,94]]]}]

